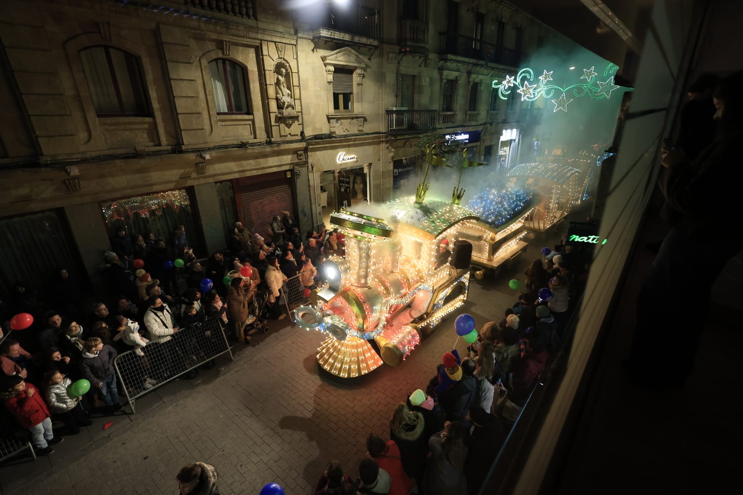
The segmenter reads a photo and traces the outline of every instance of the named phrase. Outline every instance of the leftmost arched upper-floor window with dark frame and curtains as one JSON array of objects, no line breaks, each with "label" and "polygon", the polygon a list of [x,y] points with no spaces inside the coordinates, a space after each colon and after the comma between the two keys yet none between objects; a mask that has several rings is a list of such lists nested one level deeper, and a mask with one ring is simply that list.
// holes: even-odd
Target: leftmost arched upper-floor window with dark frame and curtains
[{"label": "leftmost arched upper-floor window with dark frame and curtains", "polygon": [[132,53],[97,46],[80,50],[98,117],[151,117],[142,68]]}]

